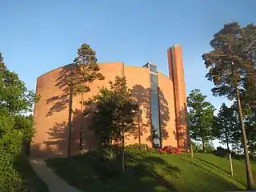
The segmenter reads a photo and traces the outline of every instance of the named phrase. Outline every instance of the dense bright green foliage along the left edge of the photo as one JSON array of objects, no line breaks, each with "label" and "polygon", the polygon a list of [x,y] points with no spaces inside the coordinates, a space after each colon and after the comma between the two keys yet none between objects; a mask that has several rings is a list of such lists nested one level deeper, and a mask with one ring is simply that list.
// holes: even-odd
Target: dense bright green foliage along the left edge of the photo
[{"label": "dense bright green foliage along the left edge of the photo", "polygon": [[24,182],[15,162],[22,154],[22,142],[34,134],[30,112],[38,97],[27,90],[18,74],[10,72],[0,54],[0,191],[22,191]]}]

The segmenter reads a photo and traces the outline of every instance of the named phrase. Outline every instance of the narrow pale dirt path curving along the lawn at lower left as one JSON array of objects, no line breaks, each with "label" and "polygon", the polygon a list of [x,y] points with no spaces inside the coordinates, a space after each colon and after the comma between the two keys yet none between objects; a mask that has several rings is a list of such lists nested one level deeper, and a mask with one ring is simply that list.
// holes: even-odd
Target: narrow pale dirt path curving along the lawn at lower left
[{"label": "narrow pale dirt path curving along the lawn at lower left", "polygon": [[30,159],[30,165],[34,172],[38,174],[38,177],[46,183],[50,192],[82,192],[67,184],[62,178],[59,178],[57,174],[46,165],[44,160]]}]

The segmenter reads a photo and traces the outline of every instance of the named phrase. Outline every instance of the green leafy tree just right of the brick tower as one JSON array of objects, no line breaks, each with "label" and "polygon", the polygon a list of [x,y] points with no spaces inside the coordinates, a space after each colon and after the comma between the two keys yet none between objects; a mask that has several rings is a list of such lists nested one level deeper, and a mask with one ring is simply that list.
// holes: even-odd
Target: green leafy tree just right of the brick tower
[{"label": "green leafy tree just right of the brick tower", "polygon": [[202,95],[200,90],[190,92],[187,97],[187,106],[189,107],[190,137],[201,141],[202,148],[205,150],[206,142],[213,138],[214,106],[206,102],[206,96]]}]

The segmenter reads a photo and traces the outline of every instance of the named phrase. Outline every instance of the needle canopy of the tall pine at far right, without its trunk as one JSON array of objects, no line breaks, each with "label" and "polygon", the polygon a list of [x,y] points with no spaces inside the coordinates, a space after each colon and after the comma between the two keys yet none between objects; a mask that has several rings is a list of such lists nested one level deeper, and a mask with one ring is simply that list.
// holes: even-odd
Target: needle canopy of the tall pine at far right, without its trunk
[{"label": "needle canopy of the tall pine at far right, without its trunk", "polygon": [[[235,97],[235,90],[245,90],[245,83],[255,73],[254,49],[252,42],[256,37],[256,27],[252,24],[241,27],[238,22],[223,26],[210,41],[213,48],[203,54],[208,73],[206,78],[214,82],[214,96]],[[256,80],[256,78],[255,78]]]}]

